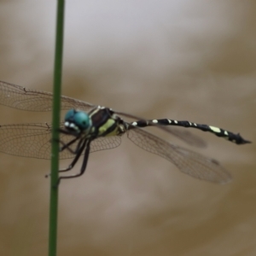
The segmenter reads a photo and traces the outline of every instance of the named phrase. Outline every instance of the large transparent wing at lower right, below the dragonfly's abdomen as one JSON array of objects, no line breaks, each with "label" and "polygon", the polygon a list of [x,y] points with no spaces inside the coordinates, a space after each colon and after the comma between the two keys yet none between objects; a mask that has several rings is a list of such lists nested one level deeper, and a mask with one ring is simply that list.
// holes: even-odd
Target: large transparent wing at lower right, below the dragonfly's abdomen
[{"label": "large transparent wing at lower right, below the dragonfly's abdomen", "polygon": [[127,133],[131,142],[138,147],[171,161],[181,172],[189,174],[189,176],[214,183],[227,183],[231,180],[230,173],[216,160],[189,149],[166,143],[159,137],[155,137],[140,128],[131,129]]}]

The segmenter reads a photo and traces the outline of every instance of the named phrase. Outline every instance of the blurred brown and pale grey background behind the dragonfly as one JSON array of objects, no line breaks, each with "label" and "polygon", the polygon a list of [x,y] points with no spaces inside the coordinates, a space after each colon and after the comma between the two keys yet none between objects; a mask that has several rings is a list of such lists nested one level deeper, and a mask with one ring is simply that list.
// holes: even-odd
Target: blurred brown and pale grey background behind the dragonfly
[{"label": "blurred brown and pale grey background behind the dragonfly", "polygon": [[[125,137],[91,154],[83,177],[61,183],[59,255],[255,255],[255,9],[254,1],[67,1],[63,95],[220,126],[253,144],[195,131],[208,147],[193,150],[230,171],[226,185],[186,176]],[[2,0],[0,19],[0,79],[51,91],[55,1]],[[4,106],[0,116],[0,125],[51,119]],[[46,255],[49,161],[0,159],[0,254]]]}]

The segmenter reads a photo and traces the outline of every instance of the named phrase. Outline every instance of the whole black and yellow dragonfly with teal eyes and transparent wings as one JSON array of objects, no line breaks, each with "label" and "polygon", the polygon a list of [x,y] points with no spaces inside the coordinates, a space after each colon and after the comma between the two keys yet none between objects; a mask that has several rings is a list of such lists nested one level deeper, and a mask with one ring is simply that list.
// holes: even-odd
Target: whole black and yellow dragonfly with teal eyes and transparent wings
[{"label": "whole black and yellow dragonfly with teal eyes and transparent wings", "polygon": [[[50,111],[53,95],[43,90],[31,90],[25,87],[0,81],[0,104],[10,108],[26,111]],[[125,134],[139,148],[157,154],[169,160],[177,168],[191,177],[213,183],[227,183],[231,180],[217,160],[208,158],[195,151],[168,143],[160,137],[145,131],[144,128],[154,126],[172,134],[197,147],[204,147],[200,137],[173,129],[172,126],[194,128],[208,131],[218,137],[224,137],[231,143],[251,143],[231,131],[212,126],[201,125],[189,121],[175,119],[143,119],[130,113],[114,111],[83,102],[68,96],[61,96],[61,109],[68,110],[64,122],[60,124],[60,159],[73,158],[67,168],[59,172],[73,169],[79,158],[84,155],[80,172],[74,175],[61,176],[72,178],[81,176],[90,153],[116,148]],[[125,119],[133,119],[132,122]],[[0,152],[22,157],[50,159],[52,125],[49,123],[29,123],[16,125],[0,125]]]}]

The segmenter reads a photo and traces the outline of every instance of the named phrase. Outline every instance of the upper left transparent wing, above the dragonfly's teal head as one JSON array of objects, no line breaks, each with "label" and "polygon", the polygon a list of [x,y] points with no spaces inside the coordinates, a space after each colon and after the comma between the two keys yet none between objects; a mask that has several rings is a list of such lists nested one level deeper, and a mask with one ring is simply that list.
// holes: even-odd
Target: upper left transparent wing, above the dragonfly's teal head
[{"label": "upper left transparent wing, above the dragonfly's teal head", "polygon": [[[52,108],[52,93],[30,90],[25,87],[0,81],[0,104],[28,111],[49,111]],[[61,96],[61,109],[79,108],[89,111],[95,106],[67,96]]]}]

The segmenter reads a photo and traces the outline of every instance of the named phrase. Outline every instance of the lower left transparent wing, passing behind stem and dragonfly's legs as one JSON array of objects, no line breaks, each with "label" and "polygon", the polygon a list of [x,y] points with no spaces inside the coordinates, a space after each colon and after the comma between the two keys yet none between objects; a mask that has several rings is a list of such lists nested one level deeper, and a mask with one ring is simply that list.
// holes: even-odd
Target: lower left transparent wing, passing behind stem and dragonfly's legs
[{"label": "lower left transparent wing, passing behind stem and dragonfly's legs", "polygon": [[[63,123],[61,123],[63,128]],[[61,141],[68,143],[74,137],[60,134]],[[116,148],[121,143],[121,137],[99,137],[90,144],[90,153],[99,150]],[[76,148],[73,143],[71,148]],[[49,159],[51,154],[51,125],[19,124],[0,126],[0,152],[24,157]],[[60,153],[60,159],[73,158],[68,150]]]}]

